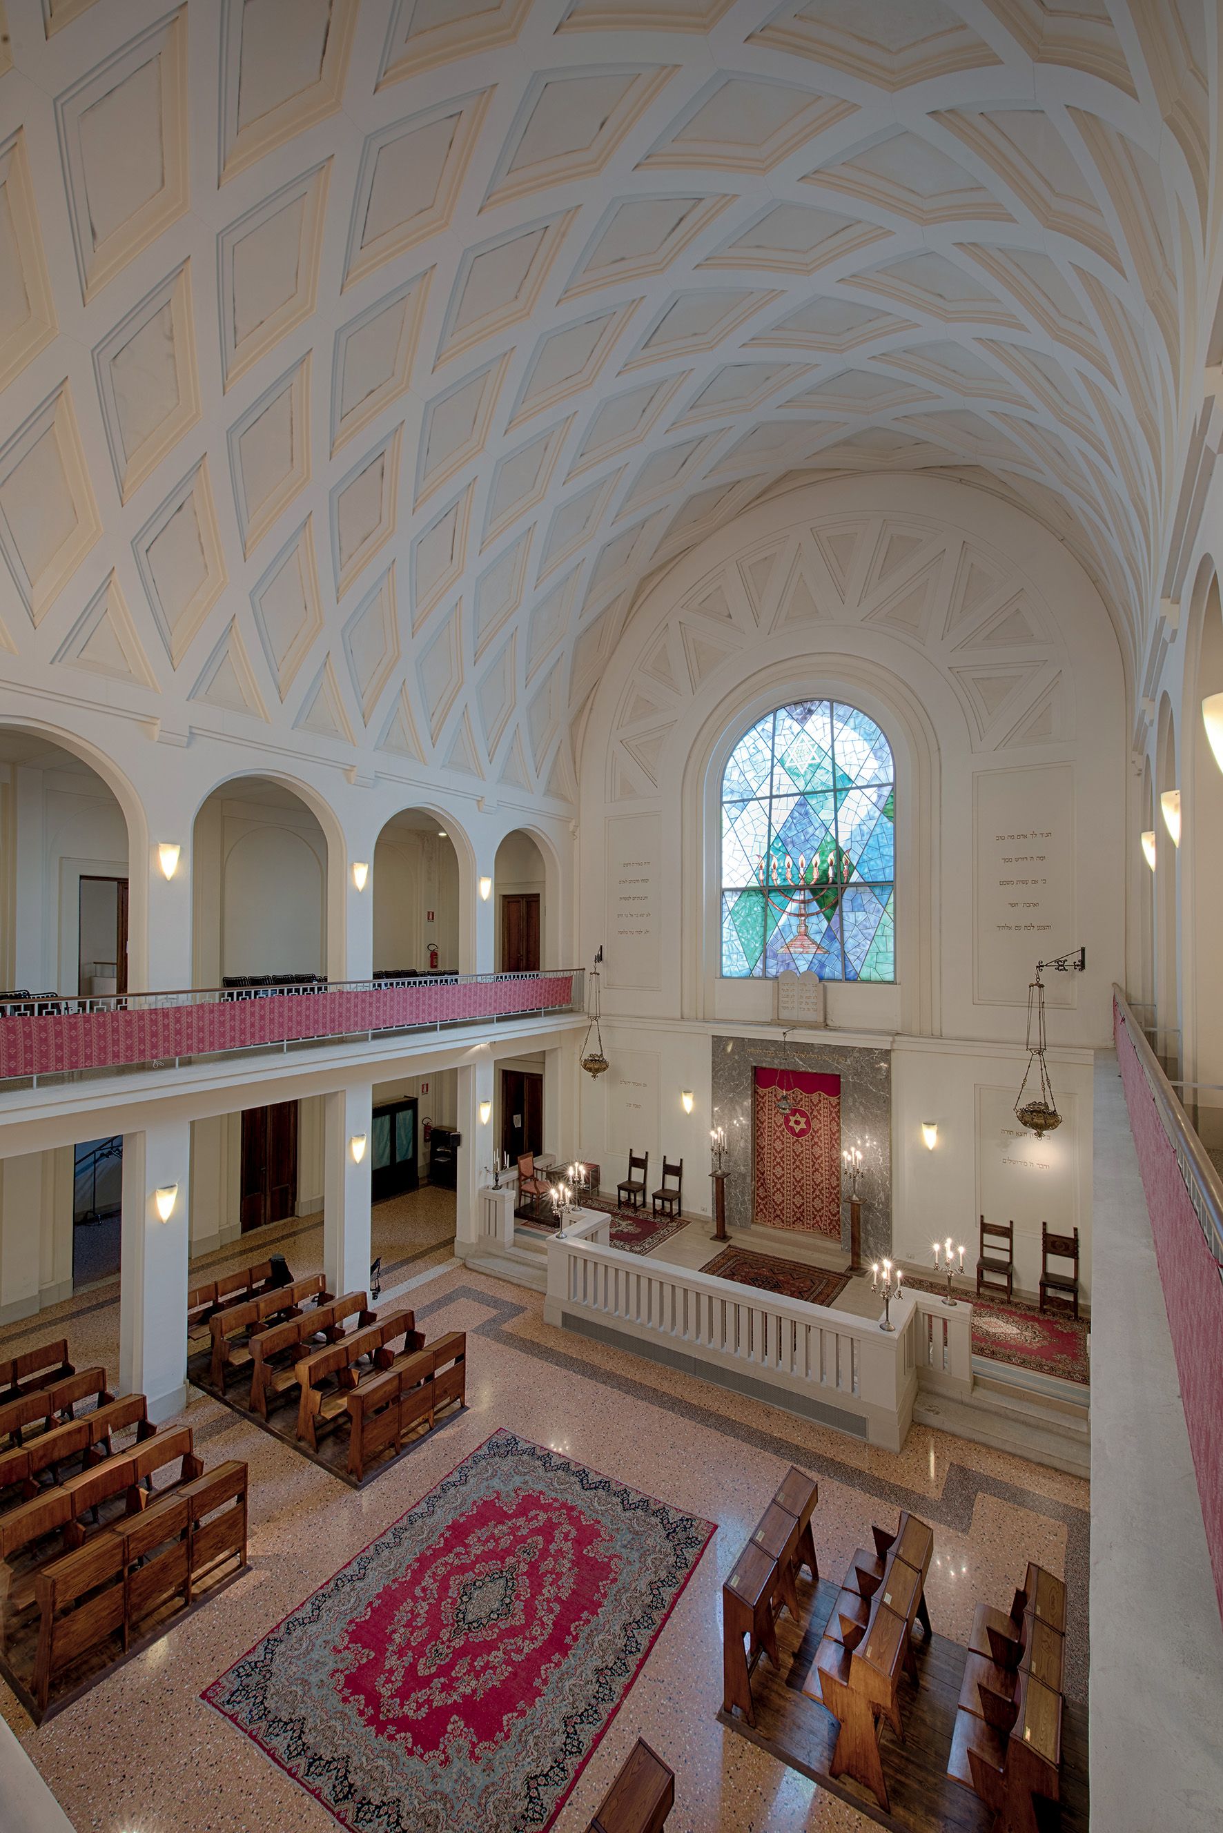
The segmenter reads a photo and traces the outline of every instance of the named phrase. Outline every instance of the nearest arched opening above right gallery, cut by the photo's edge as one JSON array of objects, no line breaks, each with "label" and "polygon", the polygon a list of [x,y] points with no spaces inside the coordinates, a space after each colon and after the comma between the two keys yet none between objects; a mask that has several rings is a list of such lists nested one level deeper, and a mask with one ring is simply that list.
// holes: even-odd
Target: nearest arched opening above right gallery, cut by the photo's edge
[{"label": "nearest arched opening above right gallery, cut by the photo's edge", "polygon": [[1197,1087],[1186,1091],[1197,1114],[1197,1133],[1223,1164],[1223,949],[1217,946],[1223,902],[1223,766],[1206,735],[1201,702],[1223,693],[1223,605],[1219,581],[1206,592],[1197,673],[1186,706],[1186,730],[1194,744],[1194,796],[1186,810],[1184,845],[1192,862],[1194,966],[1192,986],[1192,1063],[1186,1067]]}]

